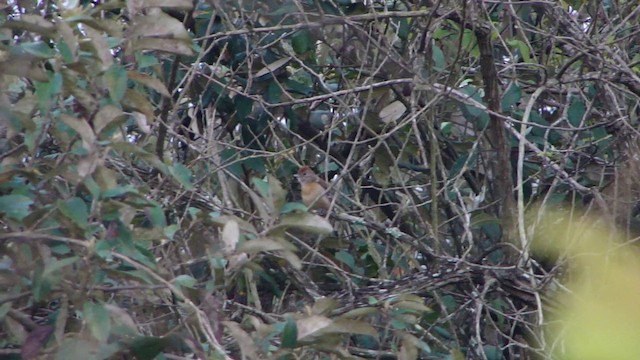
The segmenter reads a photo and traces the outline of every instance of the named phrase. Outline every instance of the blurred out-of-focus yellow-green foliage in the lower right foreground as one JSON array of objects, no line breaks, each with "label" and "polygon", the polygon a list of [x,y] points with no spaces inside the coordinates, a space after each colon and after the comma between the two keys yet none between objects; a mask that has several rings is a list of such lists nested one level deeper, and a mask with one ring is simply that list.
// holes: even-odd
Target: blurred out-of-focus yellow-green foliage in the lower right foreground
[{"label": "blurred out-of-focus yellow-green foliage in the lower right foreground", "polygon": [[[553,358],[640,359],[640,252],[601,219],[566,220],[555,212],[541,224],[534,251],[566,257],[568,270],[549,315]],[[576,218],[575,216],[573,217]]]}]

